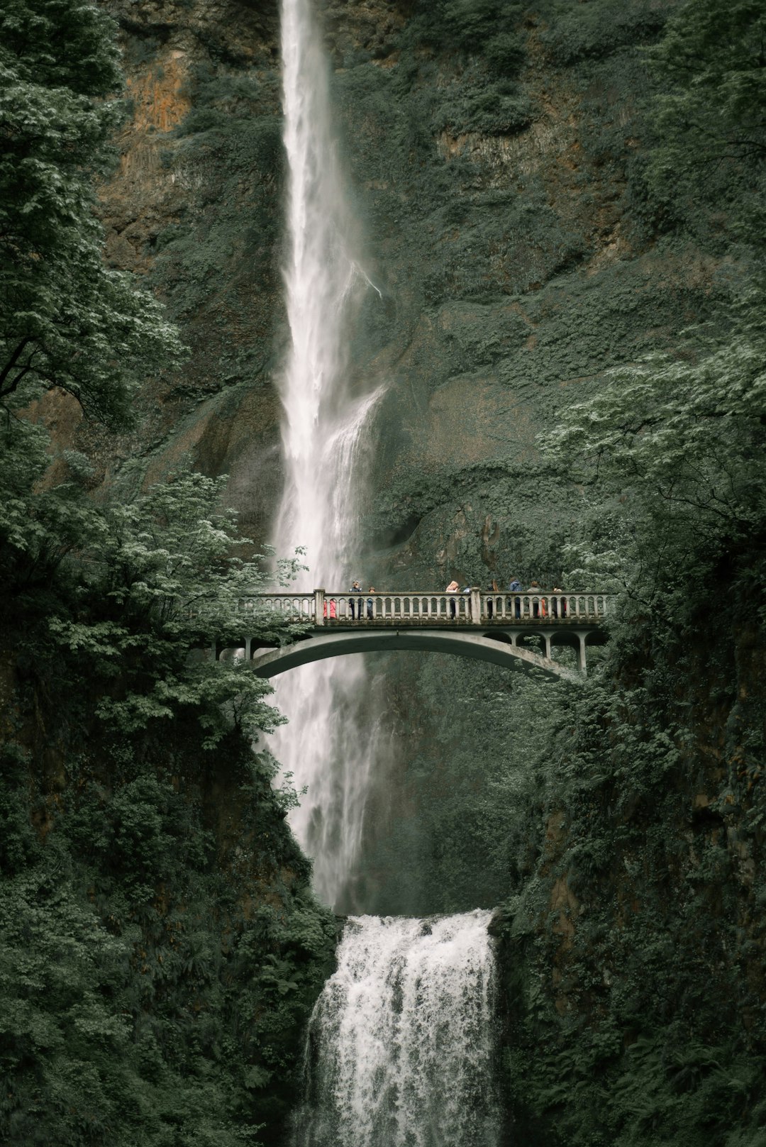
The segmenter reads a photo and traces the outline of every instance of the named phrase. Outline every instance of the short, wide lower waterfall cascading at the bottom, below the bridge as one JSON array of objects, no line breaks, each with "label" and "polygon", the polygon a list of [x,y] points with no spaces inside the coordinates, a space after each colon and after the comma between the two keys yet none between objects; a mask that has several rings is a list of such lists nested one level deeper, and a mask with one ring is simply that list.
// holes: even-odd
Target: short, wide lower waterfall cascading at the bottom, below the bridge
[{"label": "short, wide lower waterfall cascading at the bottom, below the bridge", "polygon": [[349,919],[295,1147],[497,1147],[490,916]]}]

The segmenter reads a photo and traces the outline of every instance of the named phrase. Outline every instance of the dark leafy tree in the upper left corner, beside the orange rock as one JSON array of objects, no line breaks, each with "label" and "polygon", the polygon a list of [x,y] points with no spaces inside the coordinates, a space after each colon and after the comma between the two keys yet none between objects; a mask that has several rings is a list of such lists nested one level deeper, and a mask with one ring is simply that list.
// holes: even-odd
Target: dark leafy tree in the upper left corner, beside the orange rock
[{"label": "dark leafy tree in the upper left corner, beside the orange rock", "polygon": [[102,257],[94,179],[123,114],[116,25],[89,2],[0,13],[0,401],[60,387],[110,426],[180,345],[159,304]]}]

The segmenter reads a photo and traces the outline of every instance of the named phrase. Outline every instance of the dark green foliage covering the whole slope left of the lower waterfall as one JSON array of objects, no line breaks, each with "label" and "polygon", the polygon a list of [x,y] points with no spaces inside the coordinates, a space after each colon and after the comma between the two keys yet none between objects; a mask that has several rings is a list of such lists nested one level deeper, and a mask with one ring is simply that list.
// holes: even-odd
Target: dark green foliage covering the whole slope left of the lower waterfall
[{"label": "dark green foliage covering the whole slope left of the lower waterfall", "polygon": [[292,794],[251,749],[281,719],[269,687],[200,656],[240,640],[261,565],[220,481],[97,505],[81,459],[41,481],[40,427],[3,438],[3,721],[32,749],[0,762],[0,1138],[255,1144],[284,1122],[335,938]]}]

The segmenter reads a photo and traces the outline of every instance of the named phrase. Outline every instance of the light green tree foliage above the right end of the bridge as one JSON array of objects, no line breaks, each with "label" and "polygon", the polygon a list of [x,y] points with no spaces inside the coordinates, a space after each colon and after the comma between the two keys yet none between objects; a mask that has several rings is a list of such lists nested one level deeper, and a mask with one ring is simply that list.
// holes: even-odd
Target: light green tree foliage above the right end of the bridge
[{"label": "light green tree foliage above the right end of the bridge", "polygon": [[697,336],[683,357],[615,370],[546,439],[560,466],[618,497],[619,516],[631,516],[623,554],[644,601],[701,562],[757,546],[766,516],[757,301],[734,318],[724,345]]}]

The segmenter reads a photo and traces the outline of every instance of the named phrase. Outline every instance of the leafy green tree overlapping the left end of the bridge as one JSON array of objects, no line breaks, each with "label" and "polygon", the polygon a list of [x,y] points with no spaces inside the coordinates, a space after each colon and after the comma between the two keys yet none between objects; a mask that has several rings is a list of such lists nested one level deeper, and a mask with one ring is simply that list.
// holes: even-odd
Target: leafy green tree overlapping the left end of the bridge
[{"label": "leafy green tree overlapping the left end of the bridge", "polygon": [[[251,545],[236,512],[220,505],[225,485],[181,471],[132,501],[94,508],[88,540],[68,559],[77,604],[50,617],[49,632],[60,649],[87,658],[104,682],[96,713],[122,733],[194,715],[209,748],[232,724],[252,736],[283,720],[250,666],[201,656],[212,642],[237,645],[243,626],[275,645],[303,632],[279,614],[256,609],[244,621],[239,611],[272,575],[264,554],[236,555]],[[279,561],[276,576],[284,584],[298,568]]]}]

